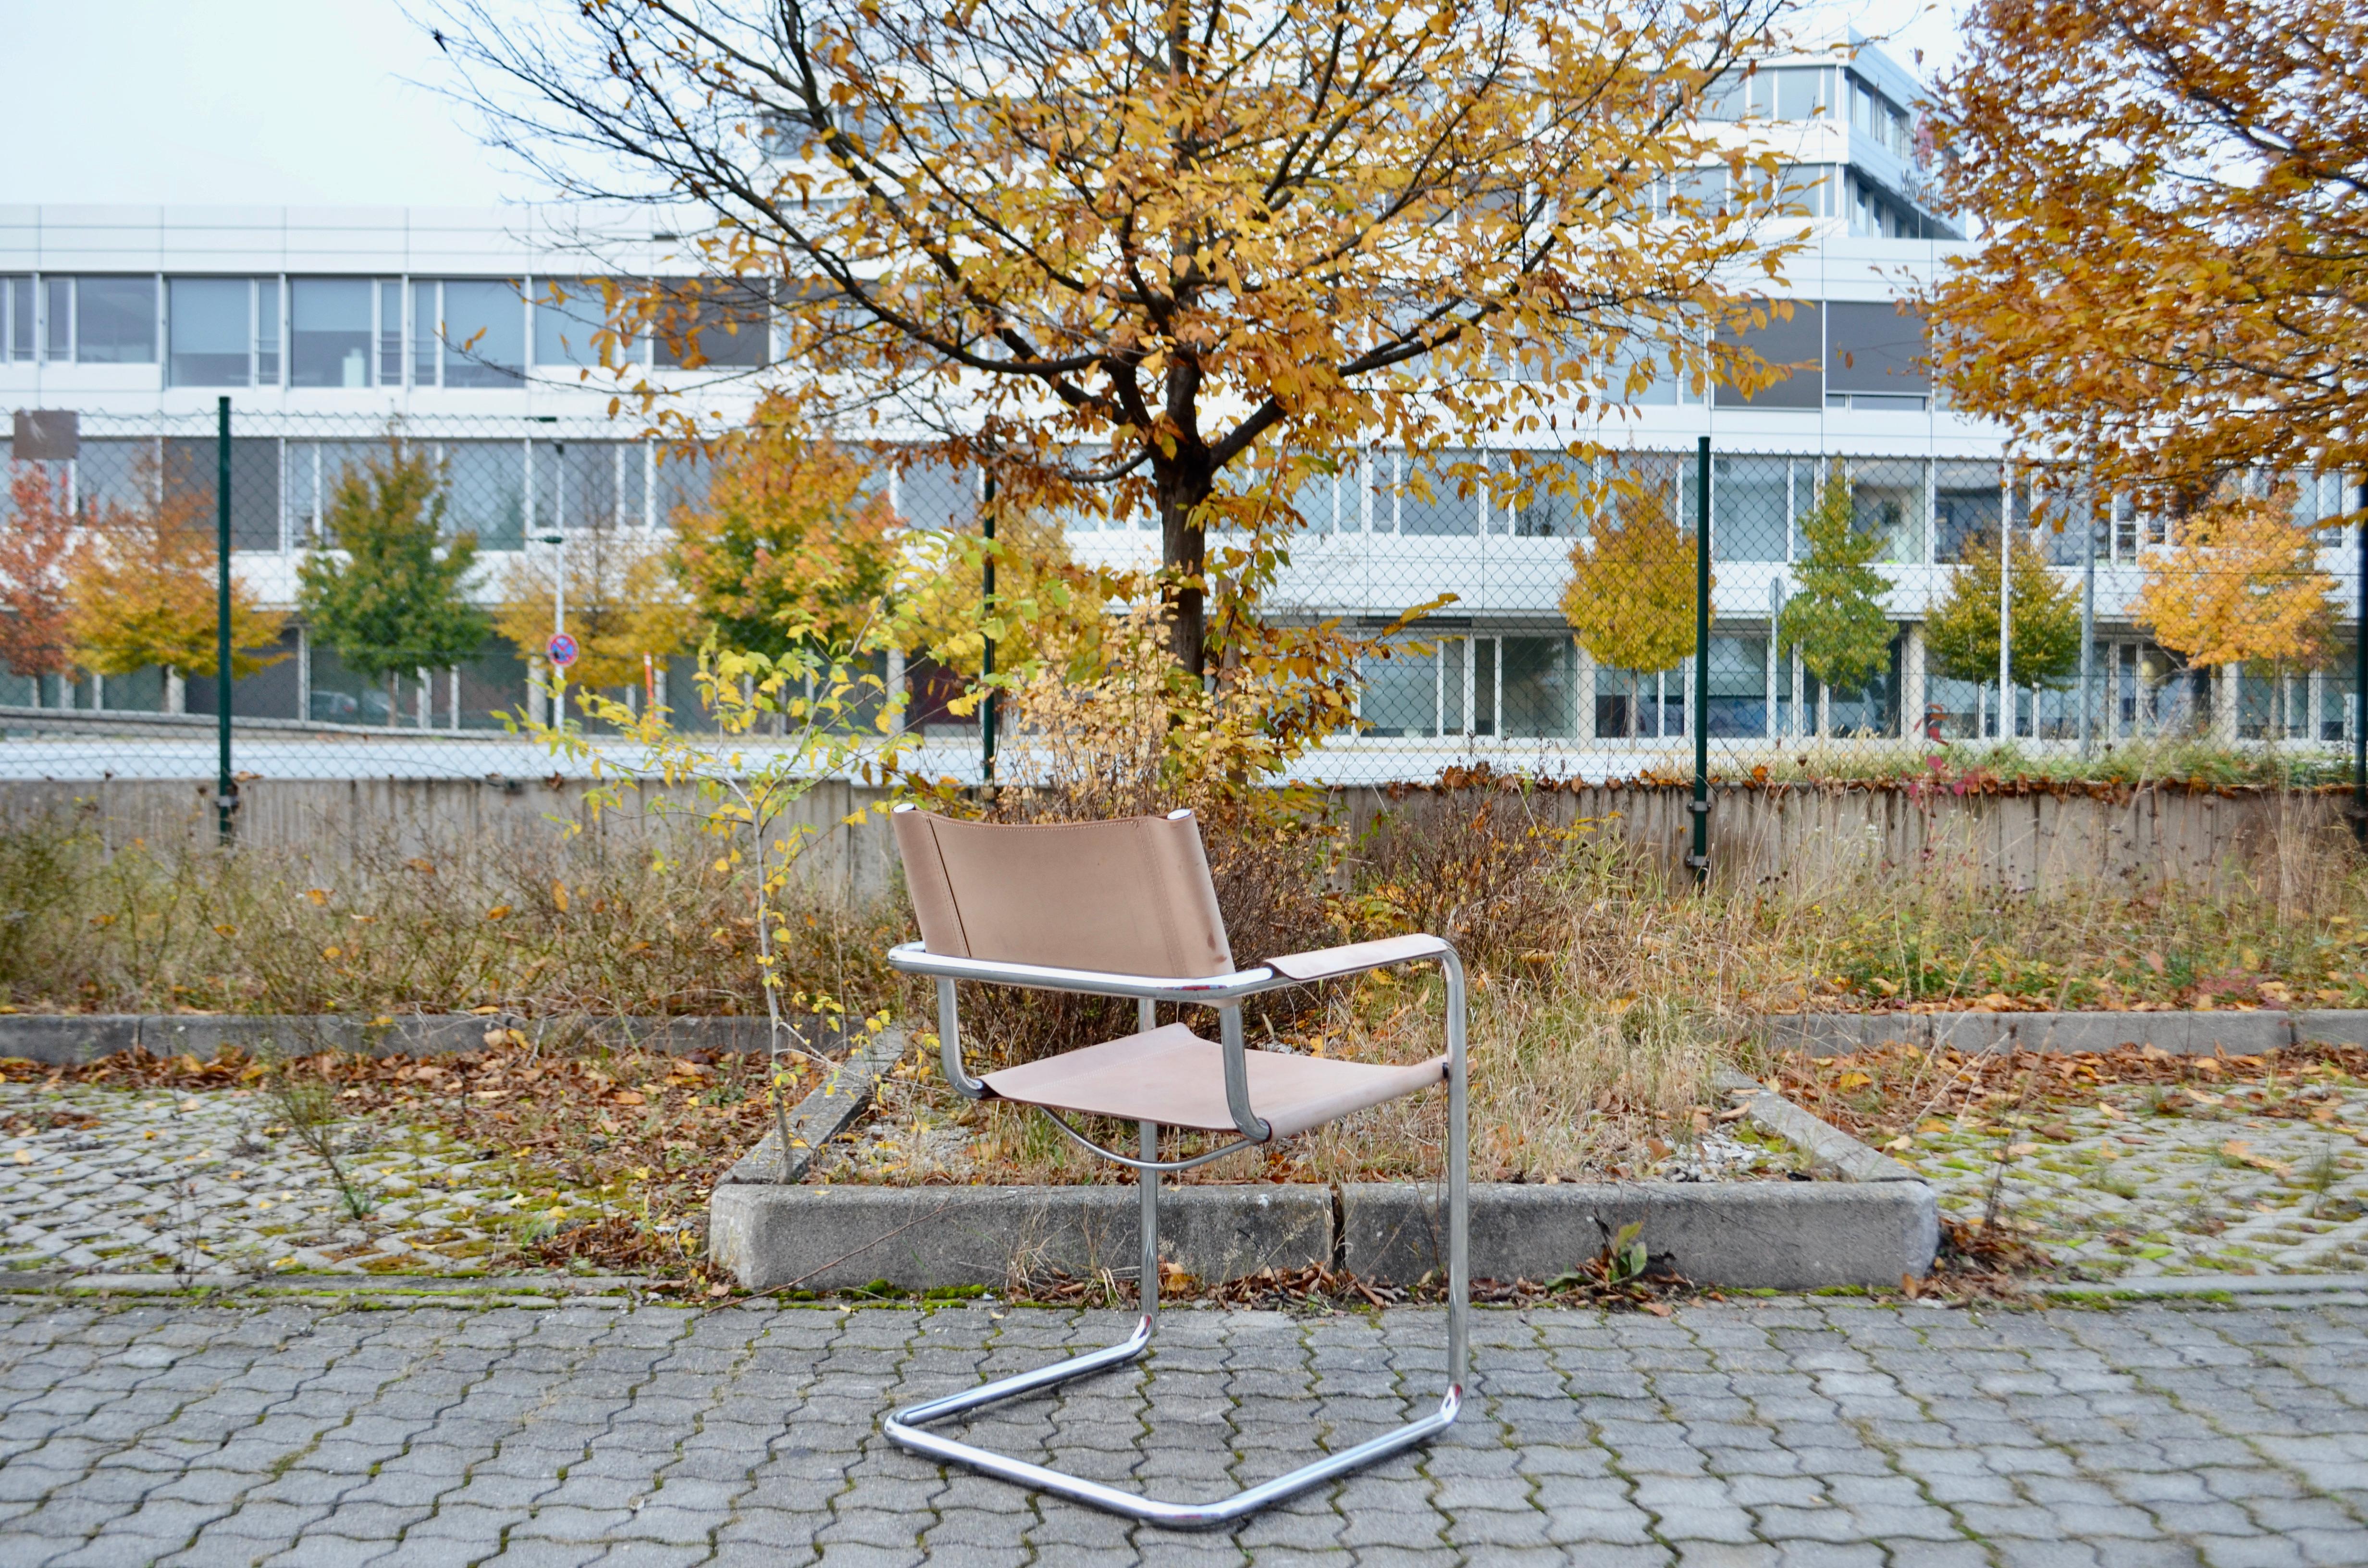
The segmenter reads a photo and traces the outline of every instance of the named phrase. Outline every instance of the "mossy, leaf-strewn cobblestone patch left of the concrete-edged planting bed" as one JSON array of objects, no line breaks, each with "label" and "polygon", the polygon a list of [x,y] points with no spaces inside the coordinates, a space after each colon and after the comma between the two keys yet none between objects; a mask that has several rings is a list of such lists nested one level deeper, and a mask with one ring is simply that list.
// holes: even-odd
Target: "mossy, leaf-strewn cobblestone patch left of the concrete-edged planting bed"
[{"label": "mossy, leaf-strewn cobblestone patch left of the concrete-edged planting bed", "polygon": [[244,1090],[0,1082],[0,1270],[466,1274],[609,1213],[433,1132],[339,1123],[355,1215]]}]

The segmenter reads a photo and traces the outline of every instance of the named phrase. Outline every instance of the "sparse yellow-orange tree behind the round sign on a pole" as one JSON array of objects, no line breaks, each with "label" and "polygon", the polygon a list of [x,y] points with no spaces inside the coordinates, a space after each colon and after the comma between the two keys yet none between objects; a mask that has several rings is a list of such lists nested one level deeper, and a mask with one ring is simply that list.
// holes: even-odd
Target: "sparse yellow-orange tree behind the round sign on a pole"
[{"label": "sparse yellow-orange tree behind the round sign on a pole", "polygon": [[668,571],[668,545],[644,528],[597,523],[568,528],[556,547],[564,578],[552,571],[549,547],[528,547],[502,573],[502,602],[493,628],[521,658],[542,658],[552,637],[552,599],[566,583],[566,630],[578,658],[566,670],[571,685],[613,689],[639,687],[644,656],[668,658],[691,640],[691,611]]}]

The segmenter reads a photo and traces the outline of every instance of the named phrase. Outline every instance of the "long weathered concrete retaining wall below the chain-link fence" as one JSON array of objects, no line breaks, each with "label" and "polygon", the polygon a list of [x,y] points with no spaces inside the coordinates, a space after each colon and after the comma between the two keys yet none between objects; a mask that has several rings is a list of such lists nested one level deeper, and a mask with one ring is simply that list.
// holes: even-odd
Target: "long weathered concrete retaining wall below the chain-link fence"
[{"label": "long weathered concrete retaining wall below the chain-link fence", "polygon": [[[362,848],[414,855],[452,846],[545,838],[552,820],[585,817],[583,779],[253,779],[242,789],[239,836],[265,850],[341,857]],[[812,886],[850,898],[893,888],[895,853],[883,817],[836,824],[879,803],[876,789],[822,784],[793,822],[829,829],[803,862]],[[1430,812],[1471,810],[1461,791],[1343,789],[1362,831],[1383,812],[1418,824]],[[1684,789],[1542,789],[1520,810],[1568,824],[1591,820],[1684,876],[1691,834]],[[628,810],[604,815],[578,853],[639,843],[696,810],[689,791],[628,791]],[[0,820],[83,812],[109,843],[201,843],[213,836],[211,786],[156,779],[0,782]],[[2096,796],[1949,796],[1904,789],[1776,786],[1717,789],[1712,874],[1724,883],[1826,886],[1864,874],[1951,876],[1982,888],[2228,886],[2325,874],[2351,853],[2342,801],[2330,793],[2233,793],[2143,789]]]}]

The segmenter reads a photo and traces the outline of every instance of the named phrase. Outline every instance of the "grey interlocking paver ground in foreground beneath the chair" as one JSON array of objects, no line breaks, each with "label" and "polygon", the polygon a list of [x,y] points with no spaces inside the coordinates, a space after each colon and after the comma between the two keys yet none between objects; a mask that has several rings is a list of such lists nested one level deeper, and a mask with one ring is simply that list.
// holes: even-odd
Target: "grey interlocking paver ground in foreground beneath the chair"
[{"label": "grey interlocking paver ground in foreground beneath the chair", "polygon": [[[2361,1563],[2368,1307],[1480,1312],[1437,1442],[1234,1532],[940,1471],[890,1400],[1113,1312],[0,1300],[0,1563]],[[973,1431],[1205,1497],[1428,1405],[1428,1310],[1172,1312]]]}]

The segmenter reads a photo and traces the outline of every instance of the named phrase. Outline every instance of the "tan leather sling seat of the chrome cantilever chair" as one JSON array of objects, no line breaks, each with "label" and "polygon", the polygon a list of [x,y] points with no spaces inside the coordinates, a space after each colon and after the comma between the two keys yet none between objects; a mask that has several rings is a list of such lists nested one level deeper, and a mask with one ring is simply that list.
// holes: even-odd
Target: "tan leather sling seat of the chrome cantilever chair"
[{"label": "tan leather sling seat of the chrome cantilever chair", "polygon": [[[1250,1108],[1267,1118],[1274,1137],[1307,1132],[1447,1080],[1447,1056],[1392,1068],[1253,1049],[1243,1061],[1250,1066]],[[999,1099],[1023,1106],[1201,1132],[1234,1130],[1234,1113],[1224,1108],[1224,1047],[1182,1023],[987,1073],[985,1082]]]}]

